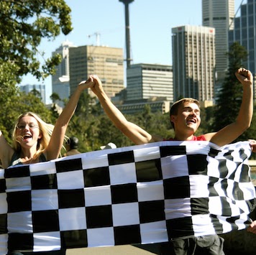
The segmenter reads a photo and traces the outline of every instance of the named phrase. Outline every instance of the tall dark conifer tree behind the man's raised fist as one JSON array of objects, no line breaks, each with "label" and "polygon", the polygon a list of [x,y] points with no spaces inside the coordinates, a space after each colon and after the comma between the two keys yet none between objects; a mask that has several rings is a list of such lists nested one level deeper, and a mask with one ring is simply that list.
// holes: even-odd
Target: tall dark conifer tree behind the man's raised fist
[{"label": "tall dark conifer tree behind the man's raised fist", "polygon": [[218,131],[234,122],[242,102],[242,85],[234,73],[242,67],[242,61],[247,58],[247,51],[238,42],[234,42],[230,46],[227,55],[229,57],[229,68],[214,107],[214,121],[212,124],[214,131]]}]

